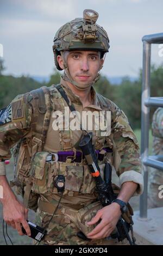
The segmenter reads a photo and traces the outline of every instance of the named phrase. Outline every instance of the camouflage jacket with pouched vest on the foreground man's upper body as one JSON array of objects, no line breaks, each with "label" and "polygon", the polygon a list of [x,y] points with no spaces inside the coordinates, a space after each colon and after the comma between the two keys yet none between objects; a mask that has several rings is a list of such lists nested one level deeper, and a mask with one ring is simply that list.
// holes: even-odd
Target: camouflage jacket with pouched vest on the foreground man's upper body
[{"label": "camouflage jacket with pouched vest on the foreground man's upper body", "polygon": [[[104,163],[109,161],[115,168],[120,178],[120,186],[123,182],[134,181],[139,186],[136,194],[142,193],[143,179],[139,157],[139,145],[131,129],[126,115],[115,103],[106,99],[91,88],[92,103],[83,108],[82,102],[74,95],[66,82],[61,80],[70,103],[76,111],[111,111],[111,133],[101,136],[100,130],[92,128],[92,143],[99,154],[103,155],[98,160],[101,172]],[[66,157],[64,161],[46,161],[51,153],[81,151],[78,144],[82,131],[54,130],[55,113],[61,111],[67,103],[62,98],[55,86],[48,89],[43,87],[46,106],[37,109],[38,100],[33,93],[18,95],[10,105],[2,109],[0,115],[0,156],[2,160],[10,158],[10,149],[22,139],[20,154],[17,162],[17,178],[21,181],[21,190],[26,190],[26,185],[32,181],[32,193],[39,195],[41,200],[58,202],[59,193],[55,187],[55,178],[61,174],[65,176],[65,191],[62,202],[65,204],[85,204],[97,198],[95,193],[96,183],[90,174],[90,170],[84,159],[75,161],[75,157]],[[50,96],[48,97],[48,92]],[[43,126],[40,126],[41,114],[43,114]],[[43,127],[43,128],[42,128]],[[43,131],[41,130],[43,129]],[[43,134],[47,135],[46,139]],[[39,132],[38,132],[39,131]],[[38,139],[38,133],[42,137]],[[45,143],[41,145],[42,138]],[[42,147],[42,148],[41,148]],[[104,150],[108,148],[109,150]],[[1,163],[1,175],[5,174],[4,165]]]}]

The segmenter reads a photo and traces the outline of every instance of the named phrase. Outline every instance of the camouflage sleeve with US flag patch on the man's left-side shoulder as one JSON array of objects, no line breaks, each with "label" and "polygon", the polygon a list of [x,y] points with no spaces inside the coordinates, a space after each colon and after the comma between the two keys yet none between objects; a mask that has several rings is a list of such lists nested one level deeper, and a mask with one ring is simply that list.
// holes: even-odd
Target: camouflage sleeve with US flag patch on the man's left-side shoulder
[{"label": "camouflage sleeve with US flag patch on the man's left-side shoulder", "polygon": [[[31,126],[30,94],[18,95],[8,107],[0,111],[0,160],[10,159],[10,149],[26,135]],[[0,175],[5,175],[4,162]]]}]

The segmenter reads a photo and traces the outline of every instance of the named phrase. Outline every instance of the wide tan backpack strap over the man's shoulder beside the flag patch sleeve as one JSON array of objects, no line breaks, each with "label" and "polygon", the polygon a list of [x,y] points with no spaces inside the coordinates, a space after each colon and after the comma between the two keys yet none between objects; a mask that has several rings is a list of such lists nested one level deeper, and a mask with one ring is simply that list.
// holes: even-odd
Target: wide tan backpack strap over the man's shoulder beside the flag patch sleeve
[{"label": "wide tan backpack strap over the man's shoulder beside the flag patch sleeve", "polygon": [[[24,144],[24,149],[26,151],[27,160],[30,163],[31,156],[34,156],[36,152],[43,150],[43,145],[46,141],[46,135],[48,131],[49,120],[51,117],[51,95],[47,87],[42,87],[40,89],[33,90],[33,119],[32,119],[32,153],[30,154],[28,143]],[[29,164],[30,167],[30,164]],[[45,176],[40,185],[45,182]],[[34,180],[35,181],[35,180]],[[32,189],[33,177],[29,177],[26,186],[26,191],[24,192],[23,202],[26,207],[28,207],[28,201],[30,192]]]}]

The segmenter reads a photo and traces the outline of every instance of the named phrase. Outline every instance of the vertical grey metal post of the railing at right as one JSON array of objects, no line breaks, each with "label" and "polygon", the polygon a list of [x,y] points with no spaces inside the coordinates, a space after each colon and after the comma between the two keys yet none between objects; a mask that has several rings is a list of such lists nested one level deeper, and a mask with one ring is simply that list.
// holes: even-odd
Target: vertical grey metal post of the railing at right
[{"label": "vertical grey metal post of the railing at right", "polygon": [[[142,99],[141,99],[141,159],[148,157],[151,44],[143,41]],[[147,218],[148,167],[143,165],[144,192],[140,197],[140,218]]]}]

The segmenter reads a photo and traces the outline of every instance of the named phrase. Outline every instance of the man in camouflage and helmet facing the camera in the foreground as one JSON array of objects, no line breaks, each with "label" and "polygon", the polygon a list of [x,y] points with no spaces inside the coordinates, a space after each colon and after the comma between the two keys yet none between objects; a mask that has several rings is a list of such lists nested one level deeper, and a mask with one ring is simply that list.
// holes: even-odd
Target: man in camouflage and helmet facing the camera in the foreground
[{"label": "man in camouflage and helmet facing the camera in the foreground", "polygon": [[[59,86],[42,87],[18,95],[1,111],[4,220],[16,228],[18,234],[22,235],[22,225],[30,235],[27,212],[28,208],[34,209],[36,223],[47,230],[43,239],[47,245],[122,244],[123,241],[118,242],[116,238],[108,240],[105,237],[114,231],[130,197],[143,190],[139,145],[128,119],[114,102],[93,88],[109,50],[108,35],[97,25],[97,18],[96,11],[84,10],[83,18],[66,23],[55,34],[54,61],[58,70],[64,70]],[[119,200],[104,208],[98,201],[95,178],[79,147],[83,131],[64,126],[69,114],[74,122],[72,106],[80,116],[84,111],[111,113],[108,135],[102,133],[103,127],[87,128],[87,132],[93,133],[92,144],[101,173],[105,163],[109,162],[120,178]],[[65,107],[68,107],[66,113]],[[74,123],[80,127],[78,121],[76,119]],[[92,123],[95,124],[95,119]],[[64,129],[61,129],[62,125]],[[18,202],[8,185],[3,162],[9,159],[10,148],[19,139],[22,143],[17,176],[11,185],[23,195],[23,204]],[[80,231],[87,236],[85,240],[77,235]]]}]

